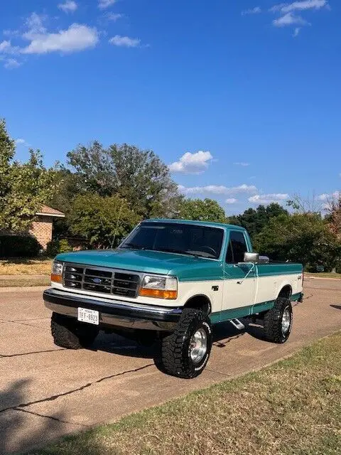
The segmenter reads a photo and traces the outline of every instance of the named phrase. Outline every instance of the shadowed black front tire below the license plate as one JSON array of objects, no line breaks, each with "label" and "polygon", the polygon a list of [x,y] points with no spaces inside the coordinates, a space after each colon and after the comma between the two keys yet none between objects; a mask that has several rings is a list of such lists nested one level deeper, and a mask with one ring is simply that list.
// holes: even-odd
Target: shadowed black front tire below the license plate
[{"label": "shadowed black front tire below the license plate", "polygon": [[75,318],[53,313],[51,333],[57,346],[67,349],[81,349],[92,345],[99,333],[97,326],[90,326]]}]

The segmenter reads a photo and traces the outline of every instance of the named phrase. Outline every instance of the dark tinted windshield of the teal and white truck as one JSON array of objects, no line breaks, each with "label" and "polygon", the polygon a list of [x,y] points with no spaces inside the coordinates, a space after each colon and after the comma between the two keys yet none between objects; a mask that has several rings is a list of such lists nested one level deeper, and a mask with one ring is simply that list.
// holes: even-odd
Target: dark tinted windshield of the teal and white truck
[{"label": "dark tinted windshield of the teal and white truck", "polygon": [[120,248],[218,259],[224,230],[182,223],[141,223]]}]

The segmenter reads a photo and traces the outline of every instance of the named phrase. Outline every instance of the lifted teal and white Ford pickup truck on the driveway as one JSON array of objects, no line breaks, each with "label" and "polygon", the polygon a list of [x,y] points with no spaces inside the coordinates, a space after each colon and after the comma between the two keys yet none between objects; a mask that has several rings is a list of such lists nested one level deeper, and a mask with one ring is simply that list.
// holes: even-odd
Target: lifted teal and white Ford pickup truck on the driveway
[{"label": "lifted teal and white Ford pickup truck on the driveway", "polygon": [[77,349],[99,329],[161,341],[163,369],[194,378],[205,368],[212,325],[264,321],[269,341],[291,333],[302,301],[301,264],[262,261],[239,226],[146,220],[117,250],[72,252],[53,262],[44,292],[55,344]]}]

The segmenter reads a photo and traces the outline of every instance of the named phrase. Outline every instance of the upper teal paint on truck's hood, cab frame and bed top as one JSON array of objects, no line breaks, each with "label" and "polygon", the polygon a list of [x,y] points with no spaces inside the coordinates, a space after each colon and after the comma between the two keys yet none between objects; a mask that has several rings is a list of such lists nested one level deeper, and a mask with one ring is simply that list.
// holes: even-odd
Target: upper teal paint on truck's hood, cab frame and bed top
[{"label": "upper teal paint on truck's hood, cab frame and bed top", "polygon": [[[259,264],[250,273],[251,264],[226,264],[224,259],[227,250],[227,238],[231,230],[244,232],[249,251],[251,242],[244,228],[224,223],[210,223],[192,220],[148,220],[148,223],[183,223],[224,230],[224,240],[220,259],[206,259],[179,255],[171,252],[148,250],[92,250],[63,253],[56,257],[62,262],[73,262],[94,267],[126,269],[135,272],[168,274],[178,277],[179,282],[221,281],[224,279],[255,279],[281,274],[301,274],[301,264]],[[248,274],[249,273],[249,274]],[[247,275],[248,274],[248,275]]]}]

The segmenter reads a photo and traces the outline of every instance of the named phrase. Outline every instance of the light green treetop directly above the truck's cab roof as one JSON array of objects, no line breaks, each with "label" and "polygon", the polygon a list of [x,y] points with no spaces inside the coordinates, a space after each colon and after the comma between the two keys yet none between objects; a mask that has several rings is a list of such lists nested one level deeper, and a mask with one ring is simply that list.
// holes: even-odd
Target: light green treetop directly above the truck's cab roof
[{"label": "light green treetop directly above the truck's cab roof", "polygon": [[183,199],[178,206],[178,216],[181,220],[214,221],[226,223],[224,209],[213,199]]}]

